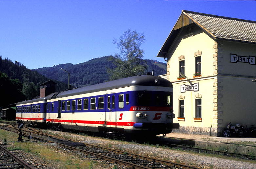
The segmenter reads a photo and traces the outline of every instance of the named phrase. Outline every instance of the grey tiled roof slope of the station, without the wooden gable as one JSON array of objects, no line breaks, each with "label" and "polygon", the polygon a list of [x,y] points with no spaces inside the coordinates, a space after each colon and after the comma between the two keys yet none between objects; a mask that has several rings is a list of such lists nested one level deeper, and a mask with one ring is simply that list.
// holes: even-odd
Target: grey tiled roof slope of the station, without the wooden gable
[{"label": "grey tiled roof slope of the station, without the wooden gable", "polygon": [[194,23],[204,28],[215,38],[256,42],[256,22],[183,11]]}]

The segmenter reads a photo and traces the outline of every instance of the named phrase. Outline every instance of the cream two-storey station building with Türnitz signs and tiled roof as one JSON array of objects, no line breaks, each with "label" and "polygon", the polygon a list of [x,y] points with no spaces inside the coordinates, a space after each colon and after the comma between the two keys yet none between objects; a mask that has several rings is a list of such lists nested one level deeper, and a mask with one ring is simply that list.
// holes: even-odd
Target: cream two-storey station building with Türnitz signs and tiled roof
[{"label": "cream two-storey station building with T\u00fcrnitz signs and tiled roof", "polygon": [[[173,84],[173,132],[256,124],[256,22],[183,10],[157,57]],[[181,74],[180,74],[181,73]]]}]

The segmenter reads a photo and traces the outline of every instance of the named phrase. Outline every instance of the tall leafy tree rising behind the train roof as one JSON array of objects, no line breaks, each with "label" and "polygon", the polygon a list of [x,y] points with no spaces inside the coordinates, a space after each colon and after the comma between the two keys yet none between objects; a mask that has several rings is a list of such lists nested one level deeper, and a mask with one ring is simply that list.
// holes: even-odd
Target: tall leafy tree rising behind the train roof
[{"label": "tall leafy tree rising behind the train roof", "polygon": [[140,49],[140,45],[144,42],[144,33],[136,31],[125,31],[120,37],[119,42],[114,38],[113,43],[120,49],[120,53],[115,53],[109,57],[110,61],[115,64],[115,68],[108,68],[107,72],[109,80],[142,75],[147,70],[147,65],[143,61],[144,50]]}]

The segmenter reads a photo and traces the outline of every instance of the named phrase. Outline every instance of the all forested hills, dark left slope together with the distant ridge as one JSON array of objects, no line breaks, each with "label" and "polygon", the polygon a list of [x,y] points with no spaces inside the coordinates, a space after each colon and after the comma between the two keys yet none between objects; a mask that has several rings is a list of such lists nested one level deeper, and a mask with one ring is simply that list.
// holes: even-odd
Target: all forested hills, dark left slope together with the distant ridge
[{"label": "all forested hills, dark left slope together with the distant ridge", "polygon": [[[50,79],[57,83],[56,92],[66,90],[68,74],[61,68],[70,73],[72,87],[84,87],[108,81],[107,68],[114,68],[108,57],[95,58],[75,65],[66,63],[30,70],[19,61],[12,62],[0,56],[0,109],[33,99],[40,94],[40,84]],[[148,66],[146,72],[154,70],[155,76],[166,74],[166,63],[149,59],[143,61]]]}]

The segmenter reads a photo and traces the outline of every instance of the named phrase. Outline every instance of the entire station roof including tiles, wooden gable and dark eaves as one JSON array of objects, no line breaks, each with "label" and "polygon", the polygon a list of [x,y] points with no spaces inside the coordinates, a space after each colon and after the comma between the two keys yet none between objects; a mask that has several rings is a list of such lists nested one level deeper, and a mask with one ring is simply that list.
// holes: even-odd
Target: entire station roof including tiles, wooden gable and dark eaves
[{"label": "entire station roof including tiles, wooden gable and dark eaves", "polygon": [[256,21],[182,10],[157,57],[164,58],[180,28],[192,23],[202,28],[213,39],[256,43]]}]

